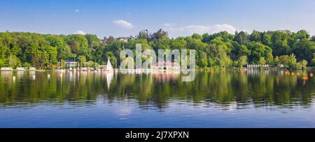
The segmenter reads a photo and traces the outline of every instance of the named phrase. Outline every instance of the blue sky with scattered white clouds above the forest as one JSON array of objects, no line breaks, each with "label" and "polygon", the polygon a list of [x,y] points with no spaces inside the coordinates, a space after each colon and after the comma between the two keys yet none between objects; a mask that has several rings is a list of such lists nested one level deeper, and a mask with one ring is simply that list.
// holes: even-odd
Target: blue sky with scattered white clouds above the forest
[{"label": "blue sky with scattered white clouds above the forest", "polygon": [[0,32],[135,36],[165,29],[169,36],[218,31],[306,29],[315,35],[312,0],[1,0]]}]

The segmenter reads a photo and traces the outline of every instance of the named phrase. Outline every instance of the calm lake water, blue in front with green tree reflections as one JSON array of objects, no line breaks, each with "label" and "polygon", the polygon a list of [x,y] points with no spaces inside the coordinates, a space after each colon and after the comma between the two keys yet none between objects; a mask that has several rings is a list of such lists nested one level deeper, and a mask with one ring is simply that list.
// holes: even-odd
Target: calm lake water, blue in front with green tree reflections
[{"label": "calm lake water, blue in front with green tree reflections", "polygon": [[310,72],[2,71],[0,127],[315,127]]}]

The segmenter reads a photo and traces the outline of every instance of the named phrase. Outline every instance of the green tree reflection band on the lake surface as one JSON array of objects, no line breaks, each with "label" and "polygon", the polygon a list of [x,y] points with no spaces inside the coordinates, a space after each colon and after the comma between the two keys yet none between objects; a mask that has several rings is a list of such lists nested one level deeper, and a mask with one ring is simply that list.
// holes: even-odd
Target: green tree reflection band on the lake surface
[{"label": "green tree reflection band on the lake surface", "polygon": [[[302,74],[285,75],[276,71],[199,72],[191,82],[181,81],[181,75],[114,74],[111,85],[104,73],[1,72],[0,103],[38,104],[44,102],[93,103],[98,97],[106,100],[137,100],[140,106],[166,107],[170,101],[194,103],[255,104],[309,106],[315,92],[315,79],[302,84]],[[47,74],[51,77],[48,79]],[[304,73],[305,74],[305,73]],[[12,77],[17,77],[13,81]],[[164,77],[161,79],[160,77]]]}]

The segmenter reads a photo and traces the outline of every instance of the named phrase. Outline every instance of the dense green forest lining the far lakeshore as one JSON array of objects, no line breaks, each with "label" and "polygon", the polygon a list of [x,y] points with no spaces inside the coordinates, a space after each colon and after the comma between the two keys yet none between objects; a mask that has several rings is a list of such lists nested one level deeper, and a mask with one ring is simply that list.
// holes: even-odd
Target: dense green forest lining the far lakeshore
[{"label": "dense green forest lining the far lakeshore", "polygon": [[[111,59],[114,67],[120,63],[120,51],[135,49],[195,49],[198,68],[242,67],[246,63],[285,65],[305,68],[315,65],[315,36],[305,30],[244,31],[230,34],[197,33],[193,36],[169,38],[167,31],[149,33],[140,31],[135,38],[104,39],[96,35],[50,35],[24,32],[0,33],[0,67],[64,67],[65,60],[79,62],[80,66],[106,64]],[[58,64],[60,62],[60,64]]]}]

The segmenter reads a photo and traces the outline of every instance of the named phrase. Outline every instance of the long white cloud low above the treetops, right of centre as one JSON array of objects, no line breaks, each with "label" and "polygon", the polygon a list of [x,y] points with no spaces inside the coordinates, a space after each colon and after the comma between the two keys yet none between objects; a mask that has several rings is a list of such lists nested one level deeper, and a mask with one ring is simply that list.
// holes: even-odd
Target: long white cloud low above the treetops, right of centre
[{"label": "long white cloud low above the treetops, right of centre", "polygon": [[218,33],[220,31],[228,31],[228,33],[235,33],[237,29],[230,24],[215,24],[215,25],[188,25],[188,26],[174,26],[174,24],[163,25],[170,36],[191,36],[193,33]]}]

